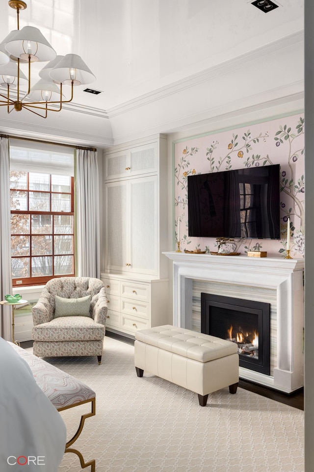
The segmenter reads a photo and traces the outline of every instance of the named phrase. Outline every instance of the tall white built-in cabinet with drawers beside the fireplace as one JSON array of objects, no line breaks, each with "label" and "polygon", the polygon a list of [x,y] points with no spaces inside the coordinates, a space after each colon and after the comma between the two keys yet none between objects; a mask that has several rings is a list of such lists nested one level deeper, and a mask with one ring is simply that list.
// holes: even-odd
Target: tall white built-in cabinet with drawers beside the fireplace
[{"label": "tall white built-in cabinet with drawers beside the fireplace", "polygon": [[166,155],[161,135],[104,155],[106,326],[127,334],[170,322]]}]

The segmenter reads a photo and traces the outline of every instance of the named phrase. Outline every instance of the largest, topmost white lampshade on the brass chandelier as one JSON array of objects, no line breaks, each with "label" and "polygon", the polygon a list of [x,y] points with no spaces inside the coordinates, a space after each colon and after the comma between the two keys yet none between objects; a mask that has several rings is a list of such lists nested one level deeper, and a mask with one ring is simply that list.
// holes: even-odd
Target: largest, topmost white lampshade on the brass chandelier
[{"label": "largest, topmost white lampshade on the brass chandelier", "polygon": [[52,60],[56,52],[38,28],[25,26],[5,43],[6,50],[16,58],[30,61]]}]

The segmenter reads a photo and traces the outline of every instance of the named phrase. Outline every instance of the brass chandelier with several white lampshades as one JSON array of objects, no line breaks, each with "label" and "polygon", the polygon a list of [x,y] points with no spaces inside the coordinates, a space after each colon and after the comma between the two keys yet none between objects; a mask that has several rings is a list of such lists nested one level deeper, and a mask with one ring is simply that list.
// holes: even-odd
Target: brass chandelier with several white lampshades
[{"label": "brass chandelier with several white lampshades", "polygon": [[[90,84],[96,80],[85,62],[76,54],[57,56],[56,52],[38,28],[19,27],[19,12],[26,9],[23,0],[10,0],[9,6],[17,12],[17,29],[12,30],[0,43],[0,106],[13,110],[29,110],[35,115],[47,118],[48,111],[59,112],[63,103],[73,100],[73,88]],[[47,62],[39,72],[40,80],[31,87],[32,62]],[[20,69],[28,64],[28,77]],[[27,92],[21,85],[26,84]],[[62,86],[71,87],[71,98],[65,100]],[[2,92],[2,89],[6,89]],[[41,112],[39,111],[41,110]]]}]

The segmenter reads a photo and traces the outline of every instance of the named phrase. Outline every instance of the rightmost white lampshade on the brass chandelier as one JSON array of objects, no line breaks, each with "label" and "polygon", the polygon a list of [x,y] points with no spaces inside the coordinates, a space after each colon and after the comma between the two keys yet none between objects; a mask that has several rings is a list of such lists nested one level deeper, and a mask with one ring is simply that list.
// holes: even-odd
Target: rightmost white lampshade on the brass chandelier
[{"label": "rightmost white lampshade on the brass chandelier", "polygon": [[67,54],[51,70],[50,77],[57,83],[90,84],[96,80],[85,62],[77,54]]}]

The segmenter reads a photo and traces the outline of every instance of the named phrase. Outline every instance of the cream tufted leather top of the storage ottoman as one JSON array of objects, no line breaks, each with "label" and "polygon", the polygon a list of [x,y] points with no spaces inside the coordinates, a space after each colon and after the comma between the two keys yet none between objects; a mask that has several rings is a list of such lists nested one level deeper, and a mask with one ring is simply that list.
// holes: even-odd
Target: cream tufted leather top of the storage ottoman
[{"label": "cream tufted leather top of the storage ottoman", "polygon": [[237,345],[231,341],[171,324],[140,329],[136,331],[135,339],[199,362],[208,362],[237,352]]}]

